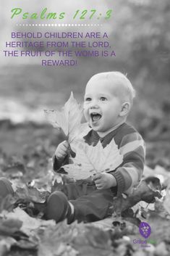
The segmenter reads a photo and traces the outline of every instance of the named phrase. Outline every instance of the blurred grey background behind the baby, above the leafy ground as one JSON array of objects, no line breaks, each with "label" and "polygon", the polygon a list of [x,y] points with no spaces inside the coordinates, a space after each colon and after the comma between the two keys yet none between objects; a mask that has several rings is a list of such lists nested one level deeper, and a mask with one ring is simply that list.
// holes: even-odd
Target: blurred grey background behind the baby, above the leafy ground
[{"label": "blurred grey background behind the baby, above the leafy ground", "polygon": [[[12,30],[19,31],[16,23],[23,23],[20,17],[10,19],[14,7],[21,7],[25,12],[40,12],[48,7],[51,12],[68,13],[76,9],[94,8],[100,12],[113,9],[111,20],[101,19],[103,27],[95,30],[106,30],[116,57],[82,57],[77,67],[41,67],[38,59],[5,58],[2,52],[5,41],[10,41]],[[6,0],[1,2],[0,20],[1,166],[5,165],[4,155],[15,154],[21,161],[27,154],[38,154],[41,158],[45,152],[50,157],[63,138],[46,123],[43,109],[58,109],[71,91],[82,102],[85,84],[92,75],[119,70],[127,74],[137,91],[129,123],[146,141],[147,164],[151,168],[161,165],[170,169],[169,0]],[[64,22],[70,22],[69,18]],[[30,27],[29,31],[41,29],[45,30]],[[69,28],[57,28],[57,31],[64,30]],[[93,28],[86,30],[93,31]],[[30,147],[34,153],[33,150],[29,153]]]}]

